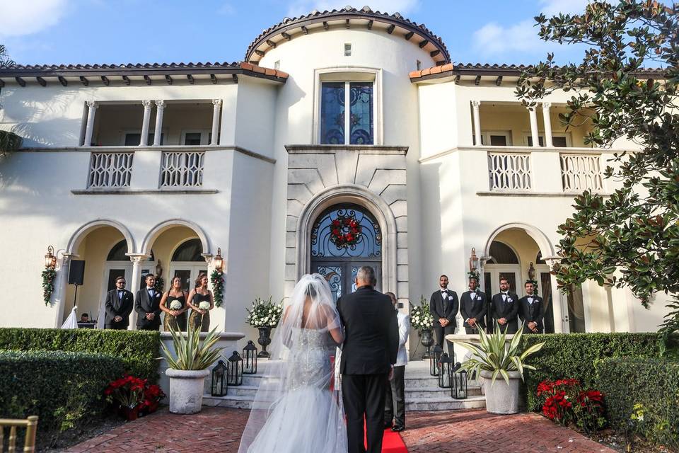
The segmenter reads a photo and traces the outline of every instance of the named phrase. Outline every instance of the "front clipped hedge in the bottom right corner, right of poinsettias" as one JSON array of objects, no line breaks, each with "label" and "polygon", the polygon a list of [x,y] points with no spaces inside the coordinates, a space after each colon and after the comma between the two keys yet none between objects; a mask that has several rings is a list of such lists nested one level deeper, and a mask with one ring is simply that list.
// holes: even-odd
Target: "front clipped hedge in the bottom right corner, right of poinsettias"
[{"label": "front clipped hedge in the bottom right corner, right of poinsettias", "polygon": [[596,363],[596,374],[615,430],[679,449],[678,362],[609,358]]}]

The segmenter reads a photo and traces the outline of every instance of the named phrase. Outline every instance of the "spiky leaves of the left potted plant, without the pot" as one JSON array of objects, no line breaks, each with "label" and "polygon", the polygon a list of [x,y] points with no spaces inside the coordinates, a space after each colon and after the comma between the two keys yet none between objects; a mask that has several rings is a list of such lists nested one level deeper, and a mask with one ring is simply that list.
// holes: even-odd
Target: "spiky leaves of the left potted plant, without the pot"
[{"label": "spiky leaves of the left potted plant, without the pot", "polygon": [[200,340],[200,329],[189,326],[186,333],[170,326],[173,350],[165,343],[161,343],[163,357],[168,361],[168,367],[181,370],[207,369],[221,355],[221,348],[216,346],[219,336],[217,328],[207,333],[204,340]]}]

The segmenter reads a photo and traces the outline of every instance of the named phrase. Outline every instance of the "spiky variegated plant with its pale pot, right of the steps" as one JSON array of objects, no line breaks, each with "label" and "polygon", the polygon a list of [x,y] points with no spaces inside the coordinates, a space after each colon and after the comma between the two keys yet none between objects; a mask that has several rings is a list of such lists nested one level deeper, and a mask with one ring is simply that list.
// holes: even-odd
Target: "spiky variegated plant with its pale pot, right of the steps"
[{"label": "spiky variegated plant with its pale pot, right of the steps", "polygon": [[[479,330],[479,345],[465,341],[454,342],[472,352],[472,356],[462,364],[460,369],[465,369],[475,376],[480,375],[484,379],[486,410],[490,413],[518,412],[518,379],[523,381],[524,369],[535,369],[531,365],[526,365],[526,359],[545,345],[545,342],[537,343],[519,353],[521,336],[523,336],[523,325],[518,328],[518,333],[514,333],[507,346],[506,333],[501,331],[496,323],[494,333]],[[501,376],[503,380],[497,381],[498,376]]]}]

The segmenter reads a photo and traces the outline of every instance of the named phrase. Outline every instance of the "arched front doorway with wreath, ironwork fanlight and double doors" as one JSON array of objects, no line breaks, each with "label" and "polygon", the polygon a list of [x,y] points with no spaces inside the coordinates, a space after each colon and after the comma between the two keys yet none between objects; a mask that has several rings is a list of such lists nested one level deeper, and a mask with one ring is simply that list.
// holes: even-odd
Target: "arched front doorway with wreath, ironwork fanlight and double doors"
[{"label": "arched front doorway with wreath, ironwork fanlight and double doors", "polygon": [[325,276],[335,301],[356,290],[356,273],[375,269],[377,288],[382,283],[382,231],[366,208],[344,203],[327,208],[311,229],[311,272]]}]

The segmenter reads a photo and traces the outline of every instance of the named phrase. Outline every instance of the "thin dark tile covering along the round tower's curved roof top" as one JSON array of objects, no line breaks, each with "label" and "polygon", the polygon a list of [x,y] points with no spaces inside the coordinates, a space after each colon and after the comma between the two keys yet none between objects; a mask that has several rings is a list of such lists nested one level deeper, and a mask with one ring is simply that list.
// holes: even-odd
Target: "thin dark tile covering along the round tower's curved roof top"
[{"label": "thin dark tile covering along the round tower's curved roof top", "polygon": [[272,25],[266,30],[263,30],[262,33],[260,33],[260,35],[257,36],[257,38],[255,38],[255,40],[253,40],[253,42],[250,43],[250,45],[248,46],[248,50],[245,52],[245,61],[246,62],[252,61],[255,50],[257,49],[257,47],[260,47],[262,43],[267,42],[267,40],[271,40],[275,36],[282,35],[282,33],[285,33],[288,30],[294,30],[296,28],[301,28],[303,25],[306,26],[312,23],[320,23],[329,20],[337,21],[347,19],[348,22],[352,18],[368,20],[372,19],[378,22],[389,23],[390,25],[396,25],[398,27],[405,28],[406,30],[422,35],[422,37],[424,37],[425,40],[431,42],[431,44],[433,44],[436,47],[436,49],[440,51],[441,56],[443,57],[442,60],[443,63],[451,61],[451,56],[450,54],[448,54],[448,49],[446,48],[446,45],[443,43],[443,40],[441,40],[439,36],[431,32],[429,28],[426,28],[426,25],[424,25],[423,23],[418,24],[413,21],[410,21],[409,19],[401,16],[400,13],[389,14],[381,13],[380,11],[373,11],[368,6],[364,6],[361,9],[352,8],[352,6],[346,6],[345,8],[333,9],[332,11],[323,12],[312,11],[306,16],[299,16],[294,18],[286,17],[283,19],[283,21],[277,23],[276,25]]}]

